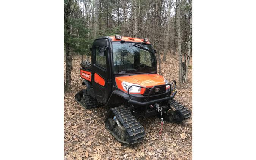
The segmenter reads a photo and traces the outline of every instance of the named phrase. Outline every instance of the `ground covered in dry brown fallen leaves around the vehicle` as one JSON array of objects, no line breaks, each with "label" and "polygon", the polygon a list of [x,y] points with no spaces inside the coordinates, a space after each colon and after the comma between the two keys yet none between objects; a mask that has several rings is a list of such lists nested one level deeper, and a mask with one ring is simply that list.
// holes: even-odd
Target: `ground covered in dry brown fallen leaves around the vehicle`
[{"label": "ground covered in dry brown fallen leaves around the vehicle", "polygon": [[[171,82],[178,81],[178,61],[168,54],[162,62],[162,74]],[[105,129],[105,117],[110,107],[83,109],[75,94],[84,89],[80,78],[81,58],[73,58],[71,91],[64,94],[64,156],[67,160],[166,160],[192,159],[192,117],[181,124],[165,122],[159,136],[160,119],[157,116],[139,118],[146,136],[145,141],[133,145],[121,144]],[[192,60],[190,61],[192,66]],[[177,82],[175,99],[192,111],[192,67],[188,82]],[[151,138],[152,137],[152,138]],[[150,139],[148,139],[150,138]]]}]

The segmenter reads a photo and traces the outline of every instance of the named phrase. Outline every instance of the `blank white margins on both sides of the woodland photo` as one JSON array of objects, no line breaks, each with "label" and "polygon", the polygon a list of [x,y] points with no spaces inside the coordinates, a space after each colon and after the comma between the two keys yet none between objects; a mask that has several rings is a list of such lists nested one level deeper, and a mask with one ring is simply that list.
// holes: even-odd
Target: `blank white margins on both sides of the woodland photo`
[{"label": "blank white margins on both sides of the woodland photo", "polygon": [[[1,159],[64,158],[63,1],[3,1]],[[193,1],[193,159],[254,159],[255,2]]]}]

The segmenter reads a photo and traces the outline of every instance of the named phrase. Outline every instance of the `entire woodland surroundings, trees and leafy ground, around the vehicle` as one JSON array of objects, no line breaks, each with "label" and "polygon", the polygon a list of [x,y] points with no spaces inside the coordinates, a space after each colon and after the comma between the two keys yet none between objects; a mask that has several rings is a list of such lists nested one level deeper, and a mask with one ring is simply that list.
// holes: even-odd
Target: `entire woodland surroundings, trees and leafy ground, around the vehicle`
[{"label": "entire woodland surroundings, trees and leafy ground, around the vehicle", "polygon": [[122,145],[104,126],[111,105],[85,110],[75,100],[85,88],[81,61],[91,60],[96,38],[115,35],[149,38],[158,74],[177,81],[176,99],[192,111],[192,0],[64,0],[65,158],[191,159],[192,118],[166,122],[159,135],[160,118],[137,116],[143,142]]}]

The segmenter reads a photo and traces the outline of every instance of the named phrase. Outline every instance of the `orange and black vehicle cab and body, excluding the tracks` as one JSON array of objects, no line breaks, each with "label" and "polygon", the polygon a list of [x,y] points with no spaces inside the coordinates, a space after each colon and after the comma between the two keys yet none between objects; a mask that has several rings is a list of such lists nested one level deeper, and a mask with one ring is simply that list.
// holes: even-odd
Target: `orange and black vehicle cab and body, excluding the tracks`
[{"label": "orange and black vehicle cab and body, excluding the tracks", "polygon": [[84,82],[90,96],[103,104],[122,104],[128,100],[145,106],[169,99],[170,85],[157,74],[155,51],[148,39],[97,38],[91,55],[91,70],[81,69],[81,77],[90,82]]}]

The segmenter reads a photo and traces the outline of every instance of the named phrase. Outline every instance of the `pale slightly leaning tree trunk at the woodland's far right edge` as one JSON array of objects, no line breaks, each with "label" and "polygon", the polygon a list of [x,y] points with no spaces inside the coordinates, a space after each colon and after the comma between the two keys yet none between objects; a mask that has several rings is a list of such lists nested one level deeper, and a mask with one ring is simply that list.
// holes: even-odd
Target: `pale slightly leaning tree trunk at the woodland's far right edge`
[{"label": "pale slightly leaning tree trunk at the woodland's far right edge", "polygon": [[191,53],[191,46],[192,46],[192,0],[190,0],[190,15],[189,15],[189,37],[188,37],[188,55],[186,60],[186,74],[185,74],[185,82],[187,82],[188,77],[188,67],[189,67],[189,60],[190,60],[190,53]]}]

